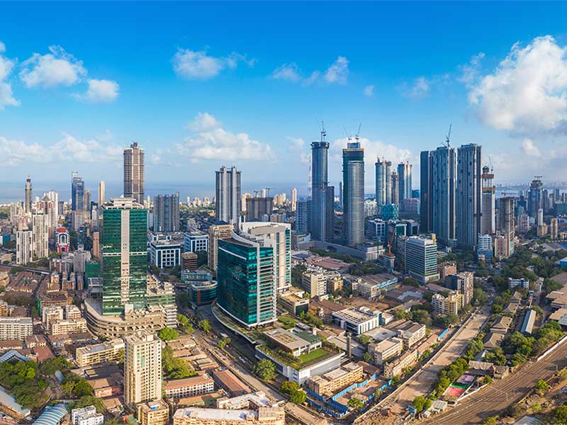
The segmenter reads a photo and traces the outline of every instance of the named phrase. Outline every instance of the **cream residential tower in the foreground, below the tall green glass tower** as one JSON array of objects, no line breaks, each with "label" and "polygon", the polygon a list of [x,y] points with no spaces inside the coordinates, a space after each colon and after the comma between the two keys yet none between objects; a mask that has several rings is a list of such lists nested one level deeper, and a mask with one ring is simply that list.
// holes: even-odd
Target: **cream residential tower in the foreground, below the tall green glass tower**
[{"label": "cream residential tower in the foreground, below the tall green glass tower", "polygon": [[124,339],[124,401],[129,406],[162,398],[162,341],[150,332]]}]

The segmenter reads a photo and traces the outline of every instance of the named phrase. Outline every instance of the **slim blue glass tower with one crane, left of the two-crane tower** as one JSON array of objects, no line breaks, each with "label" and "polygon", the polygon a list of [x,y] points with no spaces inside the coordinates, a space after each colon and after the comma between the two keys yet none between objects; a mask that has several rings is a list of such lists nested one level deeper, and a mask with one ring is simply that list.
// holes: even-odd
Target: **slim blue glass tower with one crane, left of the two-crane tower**
[{"label": "slim blue glass tower with one crane, left of the two-crane tower", "polygon": [[335,188],[329,186],[329,142],[311,143],[311,237],[330,241],[335,229]]}]

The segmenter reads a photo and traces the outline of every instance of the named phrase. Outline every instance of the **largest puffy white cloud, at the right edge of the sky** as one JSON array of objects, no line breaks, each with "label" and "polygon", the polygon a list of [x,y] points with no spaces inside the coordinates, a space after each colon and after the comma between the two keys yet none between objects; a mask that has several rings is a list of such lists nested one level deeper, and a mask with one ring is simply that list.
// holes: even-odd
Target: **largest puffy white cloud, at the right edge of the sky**
[{"label": "largest puffy white cloud, at the right edge of the sky", "polygon": [[551,35],[526,47],[515,43],[492,74],[471,84],[468,94],[482,122],[519,133],[567,129],[567,47]]}]

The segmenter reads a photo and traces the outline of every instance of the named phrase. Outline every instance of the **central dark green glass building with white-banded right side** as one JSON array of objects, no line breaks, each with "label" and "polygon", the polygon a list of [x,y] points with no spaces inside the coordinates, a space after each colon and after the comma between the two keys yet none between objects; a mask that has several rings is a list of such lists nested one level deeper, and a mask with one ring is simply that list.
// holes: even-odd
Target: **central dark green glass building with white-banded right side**
[{"label": "central dark green glass building with white-banded right side", "polygon": [[218,240],[217,304],[247,327],[274,322],[274,249],[235,233]]}]

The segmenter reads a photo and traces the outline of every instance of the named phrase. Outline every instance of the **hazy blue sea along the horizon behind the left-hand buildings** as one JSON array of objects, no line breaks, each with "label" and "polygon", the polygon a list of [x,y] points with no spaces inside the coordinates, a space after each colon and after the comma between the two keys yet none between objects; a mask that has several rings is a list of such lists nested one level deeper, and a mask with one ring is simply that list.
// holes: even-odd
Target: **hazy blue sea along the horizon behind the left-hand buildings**
[{"label": "hazy blue sea along the horizon behind the left-hand buildings", "polygon": [[[22,200],[24,197],[24,186],[25,183],[22,182],[0,182],[0,204],[12,203],[17,200]],[[106,198],[113,196],[120,196],[123,193],[123,183],[106,181]],[[298,196],[305,196],[307,194],[307,183],[253,183],[251,185],[243,186],[242,193],[254,193],[261,188],[270,188],[271,195],[276,195],[277,193],[286,193],[290,196],[291,189],[297,188]],[[85,182],[85,187],[91,191],[92,200],[96,200],[99,196],[99,183],[89,184],[89,181]],[[55,182],[49,183],[44,181],[34,181],[32,180],[32,196],[43,196],[43,193],[47,191],[56,191],[59,193],[60,200],[69,200],[71,198],[71,182]],[[204,198],[208,196],[213,198],[215,196],[215,183],[165,183],[165,182],[146,182],[145,185],[146,196],[153,198],[156,195],[166,194],[166,193],[176,193],[179,192],[179,199],[181,202],[186,202],[188,196],[191,198]]]}]

